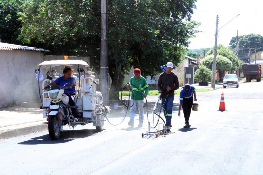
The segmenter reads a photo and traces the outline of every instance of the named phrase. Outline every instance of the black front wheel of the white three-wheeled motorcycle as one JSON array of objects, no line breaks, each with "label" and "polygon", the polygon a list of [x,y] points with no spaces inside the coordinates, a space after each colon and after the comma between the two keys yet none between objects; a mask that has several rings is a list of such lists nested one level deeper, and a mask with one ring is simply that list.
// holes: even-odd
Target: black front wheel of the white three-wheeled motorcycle
[{"label": "black front wheel of the white three-wheeled motorcycle", "polygon": [[58,126],[58,117],[50,116],[48,119],[48,133],[52,140],[57,140],[60,136],[60,127]]}]

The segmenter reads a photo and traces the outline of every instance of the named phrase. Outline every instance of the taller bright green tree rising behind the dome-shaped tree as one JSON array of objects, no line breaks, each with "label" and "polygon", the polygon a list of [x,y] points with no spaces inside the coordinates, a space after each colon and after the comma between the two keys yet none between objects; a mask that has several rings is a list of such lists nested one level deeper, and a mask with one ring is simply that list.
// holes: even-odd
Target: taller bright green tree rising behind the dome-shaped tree
[{"label": "taller bright green tree rising behind the dome-shaped tree", "polygon": [[[214,47],[211,48],[208,52],[208,55],[214,54]],[[233,51],[229,50],[227,47],[222,44],[217,45],[217,57],[218,55],[224,56],[232,62],[232,68],[229,69],[230,73],[234,73],[237,69],[242,67],[242,61],[240,61]]]}]

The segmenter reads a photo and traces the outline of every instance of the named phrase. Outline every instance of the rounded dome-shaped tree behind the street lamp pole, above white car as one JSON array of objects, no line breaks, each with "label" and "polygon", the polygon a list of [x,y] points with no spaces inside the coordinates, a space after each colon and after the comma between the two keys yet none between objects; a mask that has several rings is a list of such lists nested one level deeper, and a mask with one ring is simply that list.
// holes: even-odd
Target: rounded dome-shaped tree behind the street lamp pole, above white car
[{"label": "rounded dome-shaped tree behind the street lamp pole, above white car", "polygon": [[[204,65],[207,68],[213,64],[214,55],[207,55],[201,62],[200,66]],[[225,71],[230,71],[232,69],[232,62],[227,59],[225,56],[217,55],[216,57],[216,71],[219,73],[219,78],[222,80],[222,77]]]}]

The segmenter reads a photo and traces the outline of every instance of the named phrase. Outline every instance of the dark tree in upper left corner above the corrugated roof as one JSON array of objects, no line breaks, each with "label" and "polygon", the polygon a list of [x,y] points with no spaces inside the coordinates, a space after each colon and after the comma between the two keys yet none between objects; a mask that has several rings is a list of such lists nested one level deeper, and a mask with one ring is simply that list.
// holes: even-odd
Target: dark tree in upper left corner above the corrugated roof
[{"label": "dark tree in upper left corner above the corrugated roof", "polygon": [[24,0],[0,0],[0,38],[2,42],[16,43],[20,34],[17,13],[22,12]]}]

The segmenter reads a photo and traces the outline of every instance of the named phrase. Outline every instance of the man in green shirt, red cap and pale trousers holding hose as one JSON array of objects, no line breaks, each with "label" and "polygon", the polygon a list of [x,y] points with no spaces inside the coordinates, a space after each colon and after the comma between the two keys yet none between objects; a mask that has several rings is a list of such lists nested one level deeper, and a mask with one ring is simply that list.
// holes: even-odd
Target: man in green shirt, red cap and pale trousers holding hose
[{"label": "man in green shirt, red cap and pale trousers holding hose", "polygon": [[[131,105],[130,107],[130,121],[128,123],[129,126],[134,126],[134,116],[135,110],[138,107],[139,110],[139,125],[138,127],[143,126],[143,98],[146,98],[149,92],[149,85],[146,82],[146,79],[141,76],[141,70],[136,68],[133,72],[134,76],[131,77],[129,83],[131,84]],[[127,85],[127,89],[130,89],[130,84]],[[137,88],[138,89],[137,89]],[[145,90],[145,92],[144,92]],[[142,93],[143,92],[143,93]],[[134,98],[133,98],[134,96]]]}]

